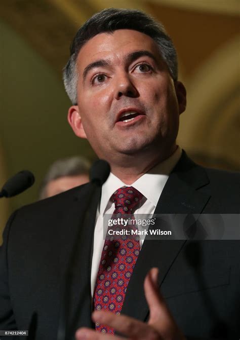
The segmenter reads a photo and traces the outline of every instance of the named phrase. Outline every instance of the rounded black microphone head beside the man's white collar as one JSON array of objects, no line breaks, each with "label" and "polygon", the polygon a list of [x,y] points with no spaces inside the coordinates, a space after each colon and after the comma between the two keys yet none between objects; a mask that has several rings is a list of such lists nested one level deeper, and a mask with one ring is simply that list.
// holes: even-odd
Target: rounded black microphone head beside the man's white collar
[{"label": "rounded black microphone head beside the man's white collar", "polygon": [[90,169],[90,181],[101,186],[107,180],[110,170],[110,165],[106,161],[96,161]]}]

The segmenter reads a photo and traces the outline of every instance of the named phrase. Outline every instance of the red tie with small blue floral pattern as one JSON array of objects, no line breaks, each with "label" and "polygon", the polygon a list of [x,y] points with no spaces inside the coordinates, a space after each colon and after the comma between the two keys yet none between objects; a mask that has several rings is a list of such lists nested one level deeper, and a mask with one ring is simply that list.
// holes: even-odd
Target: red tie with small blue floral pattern
[{"label": "red tie with small blue floral pattern", "polygon": [[[119,188],[111,196],[115,204],[113,215],[131,214],[143,195],[132,186]],[[115,216],[114,216],[115,217]],[[139,238],[104,242],[94,292],[94,309],[121,313],[129,280],[140,251]],[[114,333],[114,329],[96,323],[96,330]]]}]

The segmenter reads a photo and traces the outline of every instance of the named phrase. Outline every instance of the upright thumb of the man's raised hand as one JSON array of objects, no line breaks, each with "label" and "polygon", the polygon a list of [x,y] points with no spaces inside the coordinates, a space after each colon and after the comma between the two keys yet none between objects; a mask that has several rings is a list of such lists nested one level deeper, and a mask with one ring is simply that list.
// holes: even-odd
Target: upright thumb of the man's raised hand
[{"label": "upright thumb of the man's raised hand", "polygon": [[152,268],[147,273],[144,281],[144,292],[150,311],[149,324],[155,322],[155,320],[158,320],[158,322],[159,320],[166,322],[166,319],[169,318],[172,320],[164,298],[159,292],[158,268]]}]

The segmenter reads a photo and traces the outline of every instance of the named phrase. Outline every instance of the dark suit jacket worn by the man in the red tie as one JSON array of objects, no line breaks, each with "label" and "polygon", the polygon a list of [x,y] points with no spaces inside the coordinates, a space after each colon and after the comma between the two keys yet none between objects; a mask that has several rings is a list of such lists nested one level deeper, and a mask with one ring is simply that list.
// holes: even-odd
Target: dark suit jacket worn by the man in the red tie
[{"label": "dark suit jacket worn by the man in the red tie", "polygon": [[[85,184],[11,216],[0,253],[0,329],[29,329],[29,339],[56,339],[69,260],[68,339],[80,326],[93,327],[91,258],[101,191],[91,205],[89,192]],[[204,169],[183,152],[155,213],[237,213],[239,192],[239,174]],[[186,336],[239,338],[239,248],[238,241],[145,240],[122,313],[147,321],[143,281],[150,268],[158,267],[161,291]]]}]

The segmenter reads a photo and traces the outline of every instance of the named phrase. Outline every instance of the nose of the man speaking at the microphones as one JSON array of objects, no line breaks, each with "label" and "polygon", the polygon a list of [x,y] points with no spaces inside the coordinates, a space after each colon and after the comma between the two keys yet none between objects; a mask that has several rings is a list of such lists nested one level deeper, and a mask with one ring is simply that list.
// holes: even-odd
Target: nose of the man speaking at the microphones
[{"label": "nose of the man speaking at the microphones", "polygon": [[115,99],[118,100],[123,96],[131,98],[138,96],[138,91],[127,73],[118,75],[116,79]]}]

